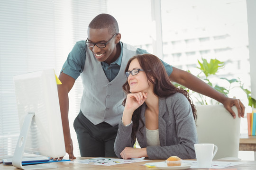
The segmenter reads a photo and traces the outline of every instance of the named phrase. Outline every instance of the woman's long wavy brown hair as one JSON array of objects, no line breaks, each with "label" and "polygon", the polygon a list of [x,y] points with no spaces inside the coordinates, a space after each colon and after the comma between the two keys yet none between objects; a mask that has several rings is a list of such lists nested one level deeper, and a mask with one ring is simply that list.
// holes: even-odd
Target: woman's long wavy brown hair
[{"label": "woman's long wavy brown hair", "polygon": [[[154,94],[156,96],[168,97],[170,95],[173,95],[174,93],[182,93],[188,99],[188,101],[191,105],[194,119],[195,120],[197,119],[196,109],[195,109],[194,104],[192,103],[189,93],[186,90],[184,90],[183,88],[175,87],[171,83],[171,81],[165,71],[165,67],[164,67],[162,61],[158,57],[156,57],[153,54],[140,54],[140,55],[133,56],[131,59],[129,59],[126,69],[125,69],[125,72],[128,71],[130,63],[133,59],[138,60],[139,65],[146,73],[147,79],[152,84],[154,84]],[[154,79],[154,81],[153,81],[153,79]],[[123,90],[126,94],[130,93],[130,86],[128,84],[128,81],[126,81],[126,83],[123,85]],[[125,102],[126,102],[126,98],[123,101],[124,106],[125,106]],[[141,119],[140,113],[141,113],[141,106],[139,108],[137,108],[137,110],[135,110],[132,115],[133,126],[132,126],[131,136],[133,139],[136,139],[135,134],[138,130],[139,121],[142,122],[143,127],[145,126],[145,124],[143,123],[143,121]]]}]

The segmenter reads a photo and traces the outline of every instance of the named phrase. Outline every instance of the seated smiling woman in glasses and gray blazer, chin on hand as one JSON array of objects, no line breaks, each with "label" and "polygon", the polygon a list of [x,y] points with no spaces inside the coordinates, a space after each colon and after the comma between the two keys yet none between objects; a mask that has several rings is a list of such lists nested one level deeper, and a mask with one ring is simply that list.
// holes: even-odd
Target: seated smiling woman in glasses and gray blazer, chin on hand
[{"label": "seated smiling woman in glasses and gray blazer, chin on hand", "polygon": [[[152,54],[129,59],[123,85],[127,97],[114,150],[119,158],[195,159],[196,110],[187,91],[169,80]],[[136,141],[141,148],[133,148]]]}]

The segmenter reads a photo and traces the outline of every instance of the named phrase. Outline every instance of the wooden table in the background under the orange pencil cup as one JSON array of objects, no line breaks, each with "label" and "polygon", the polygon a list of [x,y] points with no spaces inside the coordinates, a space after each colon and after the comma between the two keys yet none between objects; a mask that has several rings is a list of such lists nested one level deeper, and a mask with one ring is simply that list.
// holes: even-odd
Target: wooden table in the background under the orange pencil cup
[{"label": "wooden table in the background under the orange pencil cup", "polygon": [[241,134],[239,151],[254,151],[254,160],[256,160],[256,136]]}]

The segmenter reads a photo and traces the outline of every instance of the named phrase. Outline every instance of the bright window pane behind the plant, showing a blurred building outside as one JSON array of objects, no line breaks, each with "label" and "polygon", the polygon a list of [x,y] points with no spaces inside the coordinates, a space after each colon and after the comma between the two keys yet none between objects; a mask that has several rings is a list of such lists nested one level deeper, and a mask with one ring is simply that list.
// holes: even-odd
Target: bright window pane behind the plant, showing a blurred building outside
[{"label": "bright window pane behind the plant, showing a blurred building outside", "polygon": [[[184,53],[186,64],[198,65],[197,59],[201,57],[217,58],[223,62],[241,56],[246,62],[249,58],[247,0],[161,0],[161,9],[163,37],[171,42],[184,42],[185,46],[175,53]],[[175,43],[173,47],[176,50]],[[165,60],[174,61],[175,58]],[[245,65],[249,66],[249,62]],[[232,67],[237,68],[236,62]],[[246,67],[240,68],[241,74],[249,75]],[[232,71],[230,74],[240,76]],[[250,89],[250,79],[243,83]],[[247,106],[246,96],[237,97]]]}]

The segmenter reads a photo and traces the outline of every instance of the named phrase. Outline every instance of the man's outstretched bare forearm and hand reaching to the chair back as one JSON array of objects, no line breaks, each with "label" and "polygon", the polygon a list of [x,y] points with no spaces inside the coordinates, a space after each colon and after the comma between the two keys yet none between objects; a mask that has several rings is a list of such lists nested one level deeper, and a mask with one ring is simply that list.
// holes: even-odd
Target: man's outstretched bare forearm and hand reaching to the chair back
[{"label": "man's outstretched bare forearm and hand reaching to the chair back", "polygon": [[192,91],[201,93],[212,99],[217,100],[218,102],[221,102],[224,105],[224,107],[230,112],[233,118],[236,118],[236,114],[231,109],[231,107],[235,105],[238,108],[239,118],[244,117],[245,106],[239,99],[233,99],[225,96],[223,93],[218,92],[217,90],[212,88],[210,85],[203,82],[198,77],[193,76],[189,72],[173,67],[173,72],[169,76],[169,78],[171,81],[179,83],[180,85],[183,85],[191,89]]}]

